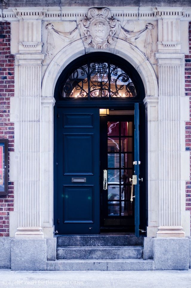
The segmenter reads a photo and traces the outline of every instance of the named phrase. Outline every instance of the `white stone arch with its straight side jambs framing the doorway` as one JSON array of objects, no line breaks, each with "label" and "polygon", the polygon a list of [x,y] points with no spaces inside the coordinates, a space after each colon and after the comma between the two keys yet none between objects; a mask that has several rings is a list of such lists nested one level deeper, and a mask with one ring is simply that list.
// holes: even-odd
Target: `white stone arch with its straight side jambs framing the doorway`
[{"label": "white stone arch with its straight side jambs framing the doorway", "polygon": [[[96,52],[100,51],[100,49],[93,49],[88,48],[84,49],[83,42],[81,40],[77,40],[72,42],[71,44],[64,47],[50,62],[43,81],[42,81],[42,89],[41,89],[41,103],[42,103],[42,203],[44,207],[42,207],[42,215],[45,215],[42,221],[42,227],[45,237],[52,237],[53,235],[53,106],[55,104],[54,99],[54,89],[56,82],[58,80],[59,75],[64,70],[64,68],[73,60],[78,58],[81,55],[84,55],[86,53],[90,52]],[[115,49],[113,48],[107,48],[104,50],[104,52],[110,52],[113,54],[118,54],[121,56],[121,58],[124,58],[126,61],[128,61],[130,64],[132,64],[135,69],[138,71],[143,84],[145,88],[145,99],[144,104],[146,106],[147,110],[147,117],[152,120],[152,117],[154,117],[153,121],[158,121],[157,119],[157,110],[158,110],[158,83],[157,78],[155,75],[155,72],[153,70],[153,67],[151,66],[148,59],[145,57],[145,55],[136,47],[132,47],[131,44],[118,39],[115,45]],[[153,110],[154,109],[154,110]],[[154,114],[153,114],[154,112]],[[147,129],[150,131],[152,129],[151,122],[148,121],[147,123]],[[51,125],[50,125],[51,124]],[[46,131],[46,133],[43,133],[43,131]],[[46,143],[48,146],[48,151],[44,151],[43,143]],[[151,178],[150,178],[150,171],[152,171],[152,163],[150,161],[151,159],[151,152],[155,153],[157,155],[157,151],[153,151],[152,148],[152,140],[149,137],[148,138],[148,226],[154,226],[151,227],[151,229],[147,231],[148,236],[155,236],[153,231],[157,231],[158,227],[158,219],[155,219],[155,221],[152,221],[151,216],[153,210],[154,212],[157,211],[157,185],[155,185],[156,189],[152,189],[151,191]],[[155,156],[156,156],[155,155]],[[155,157],[156,158],[156,157]],[[48,162],[47,162],[48,161]],[[156,165],[156,163],[155,163]],[[47,179],[47,174],[49,175],[49,179]],[[156,180],[155,180],[156,181]],[[46,188],[46,189],[45,189]],[[151,202],[151,193],[152,195],[155,195],[152,202]],[[48,211],[44,211],[47,210]],[[151,223],[152,222],[152,223]],[[150,225],[151,223],[151,225]],[[151,231],[151,232],[149,232]]]}]

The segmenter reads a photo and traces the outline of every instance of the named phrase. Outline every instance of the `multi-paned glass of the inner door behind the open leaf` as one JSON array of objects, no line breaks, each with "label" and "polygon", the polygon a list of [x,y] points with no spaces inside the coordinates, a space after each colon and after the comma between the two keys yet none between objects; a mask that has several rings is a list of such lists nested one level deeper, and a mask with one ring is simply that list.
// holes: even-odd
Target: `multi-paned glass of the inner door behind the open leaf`
[{"label": "multi-paned glass of the inner door behind the open leaf", "polygon": [[133,215],[129,182],[132,161],[133,122],[107,121],[108,216]]}]

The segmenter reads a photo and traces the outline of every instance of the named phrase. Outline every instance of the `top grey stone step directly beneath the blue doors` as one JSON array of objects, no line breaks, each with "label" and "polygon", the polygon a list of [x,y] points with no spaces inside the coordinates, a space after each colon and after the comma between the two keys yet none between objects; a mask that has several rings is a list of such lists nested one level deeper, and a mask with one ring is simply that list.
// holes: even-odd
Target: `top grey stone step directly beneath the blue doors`
[{"label": "top grey stone step directly beneath the blue doors", "polygon": [[121,234],[57,236],[58,247],[68,246],[142,246],[143,237]]}]

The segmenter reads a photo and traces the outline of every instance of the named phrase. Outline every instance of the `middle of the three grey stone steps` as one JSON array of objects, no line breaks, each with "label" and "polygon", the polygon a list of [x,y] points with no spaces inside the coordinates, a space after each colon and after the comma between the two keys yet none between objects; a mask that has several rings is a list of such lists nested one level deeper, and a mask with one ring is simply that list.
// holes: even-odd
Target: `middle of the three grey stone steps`
[{"label": "middle of the three grey stone steps", "polygon": [[142,246],[58,247],[57,259],[141,259]]}]

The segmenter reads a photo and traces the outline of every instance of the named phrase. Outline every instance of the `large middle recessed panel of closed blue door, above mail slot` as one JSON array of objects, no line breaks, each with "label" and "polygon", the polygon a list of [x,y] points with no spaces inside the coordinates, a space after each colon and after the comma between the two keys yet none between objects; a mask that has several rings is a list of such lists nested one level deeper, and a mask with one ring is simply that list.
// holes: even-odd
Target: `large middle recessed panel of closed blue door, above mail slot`
[{"label": "large middle recessed panel of closed blue door, above mail slot", "polygon": [[93,162],[93,134],[64,134],[64,174],[93,174]]}]

